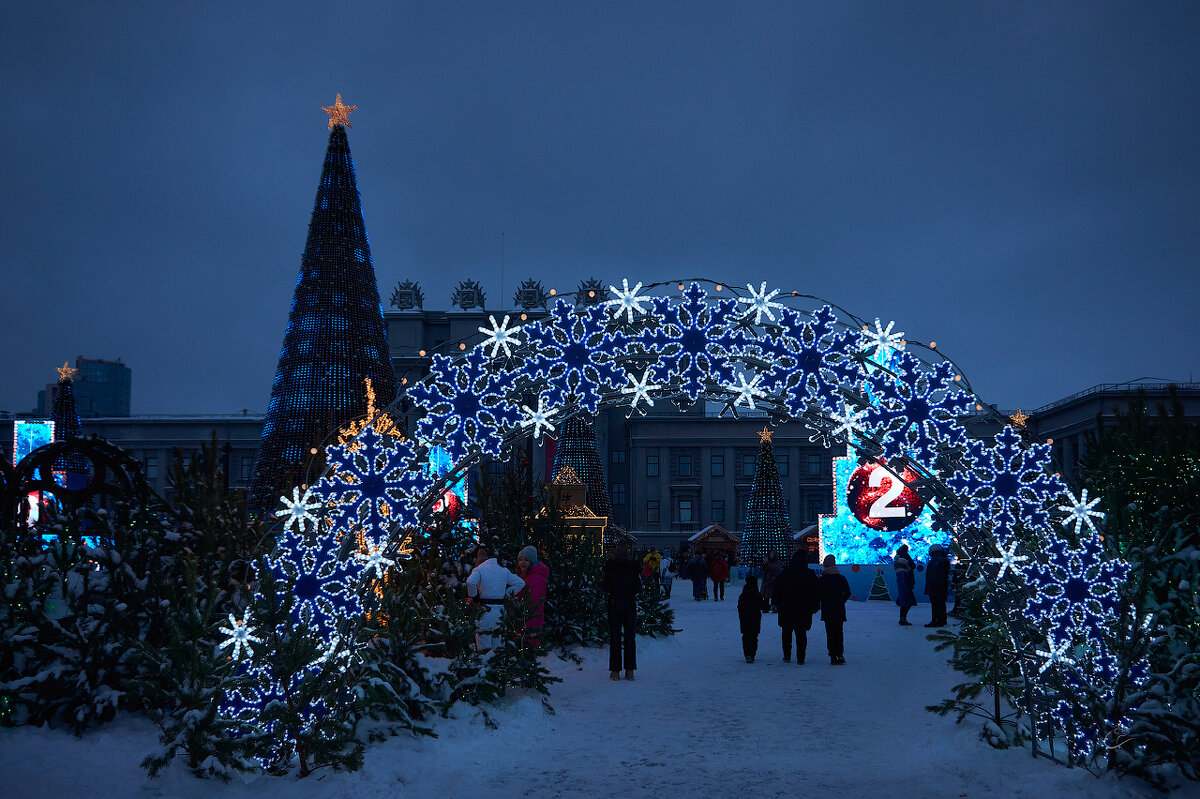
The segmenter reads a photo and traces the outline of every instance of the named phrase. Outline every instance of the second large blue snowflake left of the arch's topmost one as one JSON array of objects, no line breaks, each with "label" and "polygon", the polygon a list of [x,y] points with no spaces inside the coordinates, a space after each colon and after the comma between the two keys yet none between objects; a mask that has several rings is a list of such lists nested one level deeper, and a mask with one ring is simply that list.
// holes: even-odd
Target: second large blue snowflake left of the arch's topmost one
[{"label": "second large blue snowflake left of the arch's topmost one", "polygon": [[520,415],[510,390],[511,376],[492,372],[484,347],[457,359],[434,355],[428,378],[409,392],[427,411],[416,433],[444,443],[456,461],[475,450],[499,457],[504,432]]}]

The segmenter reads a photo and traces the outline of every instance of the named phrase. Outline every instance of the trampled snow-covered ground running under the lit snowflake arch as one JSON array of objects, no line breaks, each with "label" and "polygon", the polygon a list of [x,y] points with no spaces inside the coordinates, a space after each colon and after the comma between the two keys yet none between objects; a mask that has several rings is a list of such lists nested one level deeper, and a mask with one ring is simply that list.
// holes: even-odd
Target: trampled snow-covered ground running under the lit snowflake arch
[{"label": "trampled snow-covered ground running under the lit snowflake arch", "polygon": [[[677,583],[682,632],[638,641],[637,679],[608,680],[607,650],[582,667],[551,657],[563,678],[550,698],[512,697],[487,729],[476,713],[440,720],[436,739],[396,738],[367,750],[354,774],[254,776],[228,786],[172,768],[149,780],[138,762],[155,731],[125,719],[82,739],[50,729],[0,729],[6,799],[20,797],[1153,797],[1135,781],[1096,779],[1028,750],[996,751],[978,725],[924,710],[955,673],[920,624],[896,624],[890,602],[850,602],[846,666],[830,666],[824,627],[808,665],[784,663],[774,615],[763,617],[758,661],[742,656],[737,590],[694,602]],[[1189,785],[1174,797],[1200,797]]]}]

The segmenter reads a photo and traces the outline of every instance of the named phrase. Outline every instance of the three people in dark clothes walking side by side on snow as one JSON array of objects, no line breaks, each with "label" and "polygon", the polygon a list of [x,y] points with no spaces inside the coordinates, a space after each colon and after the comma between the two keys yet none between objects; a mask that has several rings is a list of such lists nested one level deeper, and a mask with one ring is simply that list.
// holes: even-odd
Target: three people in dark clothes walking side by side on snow
[{"label": "three people in dark clothes walking side by side on snow", "polygon": [[775,618],[784,644],[784,662],[792,660],[792,642],[796,642],[796,662],[804,663],[809,648],[809,630],[812,629],[812,617],[820,612],[826,625],[826,642],[829,650],[829,662],[841,666],[846,662],[842,625],[846,623],[846,600],[850,599],[850,581],[838,571],[838,561],[833,555],[826,555],[821,576],[817,577],[803,552],[792,555],[786,565],[778,553],[774,559],[778,571],[763,570],[763,584],[770,583],[767,590],[758,587],[755,573],[746,575],[742,595],[738,596],[738,621],[742,627],[742,653],[746,662],[752,663],[758,654],[758,633],[762,631],[762,614],[774,606]]}]

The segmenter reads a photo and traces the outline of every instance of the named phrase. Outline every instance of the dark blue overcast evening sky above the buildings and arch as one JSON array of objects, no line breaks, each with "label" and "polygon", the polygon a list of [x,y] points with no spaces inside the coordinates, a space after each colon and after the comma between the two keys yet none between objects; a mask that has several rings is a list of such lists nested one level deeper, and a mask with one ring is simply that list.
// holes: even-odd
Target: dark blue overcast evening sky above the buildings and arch
[{"label": "dark blue overcast evening sky above the buildings and arch", "polygon": [[712,277],[988,402],[1200,378],[1200,4],[8,2],[0,409],[263,411],[328,140],[380,294]]}]

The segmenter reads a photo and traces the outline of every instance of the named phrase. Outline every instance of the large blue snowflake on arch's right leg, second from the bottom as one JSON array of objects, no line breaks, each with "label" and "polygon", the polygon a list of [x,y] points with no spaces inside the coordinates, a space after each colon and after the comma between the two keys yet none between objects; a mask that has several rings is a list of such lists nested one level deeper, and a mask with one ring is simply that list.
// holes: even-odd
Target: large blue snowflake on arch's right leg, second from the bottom
[{"label": "large blue snowflake on arch's right leg, second from the bottom", "polygon": [[1045,563],[1022,569],[1033,596],[1026,613],[1045,629],[1069,635],[1104,629],[1121,609],[1120,588],[1129,565],[1104,557],[1098,536],[1080,542],[1054,541],[1045,549]]}]

